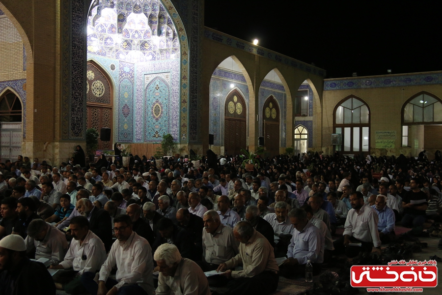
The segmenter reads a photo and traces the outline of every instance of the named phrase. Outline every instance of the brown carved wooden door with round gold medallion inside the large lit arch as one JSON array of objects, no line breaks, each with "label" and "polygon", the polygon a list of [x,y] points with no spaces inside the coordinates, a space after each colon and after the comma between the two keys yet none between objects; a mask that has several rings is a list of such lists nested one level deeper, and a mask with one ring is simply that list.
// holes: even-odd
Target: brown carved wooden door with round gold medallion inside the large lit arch
[{"label": "brown carved wooden door with round gold medallion inside the large lit arch", "polygon": [[[101,128],[112,130],[112,102],[113,89],[110,79],[105,72],[94,62],[87,62],[86,71],[87,91],[87,128],[95,128],[100,132]],[[112,132],[110,141],[98,141],[98,149],[111,149]]]}]

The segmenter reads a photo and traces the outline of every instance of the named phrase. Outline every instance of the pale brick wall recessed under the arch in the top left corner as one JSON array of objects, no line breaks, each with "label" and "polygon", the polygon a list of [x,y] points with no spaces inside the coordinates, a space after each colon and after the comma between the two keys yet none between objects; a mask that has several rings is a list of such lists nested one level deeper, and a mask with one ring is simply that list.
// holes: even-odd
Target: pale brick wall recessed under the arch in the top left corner
[{"label": "pale brick wall recessed under the arch in the top left corner", "polygon": [[0,16],[0,81],[26,79],[23,41],[11,21]]}]

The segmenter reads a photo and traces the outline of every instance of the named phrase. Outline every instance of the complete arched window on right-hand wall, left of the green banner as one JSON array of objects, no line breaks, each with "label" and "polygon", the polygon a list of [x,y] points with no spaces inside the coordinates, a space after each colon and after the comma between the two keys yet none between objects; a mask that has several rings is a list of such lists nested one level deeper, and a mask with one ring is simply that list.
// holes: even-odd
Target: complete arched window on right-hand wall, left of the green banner
[{"label": "complete arched window on right-hand wall, left of the green banner", "polygon": [[335,150],[343,154],[370,151],[370,109],[359,97],[350,95],[334,109],[334,133],[342,134],[342,145]]}]

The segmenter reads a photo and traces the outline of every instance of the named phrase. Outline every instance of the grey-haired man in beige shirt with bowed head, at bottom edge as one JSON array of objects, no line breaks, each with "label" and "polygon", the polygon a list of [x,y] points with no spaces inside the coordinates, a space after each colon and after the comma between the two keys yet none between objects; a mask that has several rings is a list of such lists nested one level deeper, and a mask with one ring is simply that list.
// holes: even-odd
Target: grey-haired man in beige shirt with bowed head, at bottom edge
[{"label": "grey-haired man in beige shirt with bowed head, at bottom edge", "polygon": [[192,260],[182,258],[175,245],[162,244],[155,251],[159,267],[157,295],[211,295],[209,283],[201,268]]}]

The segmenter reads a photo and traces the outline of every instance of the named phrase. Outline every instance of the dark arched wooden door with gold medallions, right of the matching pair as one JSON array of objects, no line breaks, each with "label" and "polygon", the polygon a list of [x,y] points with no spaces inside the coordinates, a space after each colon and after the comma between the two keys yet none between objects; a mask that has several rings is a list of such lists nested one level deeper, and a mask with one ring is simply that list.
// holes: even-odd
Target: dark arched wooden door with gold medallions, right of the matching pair
[{"label": "dark arched wooden door with gold medallions, right of the matching pair", "polygon": [[264,102],[262,110],[264,147],[270,156],[279,154],[279,108],[273,95]]}]

